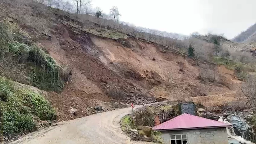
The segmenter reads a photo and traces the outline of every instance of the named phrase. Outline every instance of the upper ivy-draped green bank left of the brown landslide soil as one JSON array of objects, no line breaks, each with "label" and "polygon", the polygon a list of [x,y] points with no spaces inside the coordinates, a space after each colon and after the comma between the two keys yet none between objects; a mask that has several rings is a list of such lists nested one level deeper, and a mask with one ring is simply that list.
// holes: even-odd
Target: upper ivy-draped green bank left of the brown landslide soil
[{"label": "upper ivy-draped green bank left of the brown landslide soil", "polygon": [[[11,33],[3,23],[0,24],[0,69],[3,69],[0,75],[12,78],[12,73],[18,71],[15,68],[22,65],[20,70],[25,73],[26,84],[46,91],[60,92],[67,79],[67,73],[40,47],[17,42],[13,40]],[[18,35],[15,34],[15,37],[22,37]]]}]

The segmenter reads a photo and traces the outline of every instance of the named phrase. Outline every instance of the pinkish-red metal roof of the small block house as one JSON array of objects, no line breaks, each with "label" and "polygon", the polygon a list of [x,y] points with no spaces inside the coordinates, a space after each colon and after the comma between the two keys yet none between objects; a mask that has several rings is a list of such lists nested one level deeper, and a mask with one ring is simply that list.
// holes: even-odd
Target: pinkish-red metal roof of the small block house
[{"label": "pinkish-red metal roof of the small block house", "polygon": [[203,128],[219,128],[229,127],[231,124],[214,121],[211,119],[193,116],[189,114],[182,114],[169,121],[153,127],[157,131],[172,131],[172,130],[186,130],[186,129],[203,129]]}]

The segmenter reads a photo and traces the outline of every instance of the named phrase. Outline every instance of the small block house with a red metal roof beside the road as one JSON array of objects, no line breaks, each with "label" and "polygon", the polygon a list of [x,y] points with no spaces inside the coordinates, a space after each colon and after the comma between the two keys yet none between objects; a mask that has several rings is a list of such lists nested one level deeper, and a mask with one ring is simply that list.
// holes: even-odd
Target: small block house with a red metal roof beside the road
[{"label": "small block house with a red metal roof beside the road", "polygon": [[230,126],[184,113],[152,130],[162,133],[165,144],[228,144],[227,127]]}]

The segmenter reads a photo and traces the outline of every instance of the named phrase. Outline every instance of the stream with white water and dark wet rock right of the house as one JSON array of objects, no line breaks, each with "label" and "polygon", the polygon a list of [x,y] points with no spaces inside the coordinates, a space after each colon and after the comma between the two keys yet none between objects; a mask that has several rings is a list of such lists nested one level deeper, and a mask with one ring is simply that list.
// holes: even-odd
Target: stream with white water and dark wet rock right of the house
[{"label": "stream with white water and dark wet rock right of the house", "polygon": [[[230,122],[228,122],[227,118],[220,116],[218,121],[232,124],[232,127],[227,128],[229,144],[255,144],[249,140],[244,139],[246,137],[248,138],[248,136],[250,137],[250,126],[243,119],[240,119],[236,116],[229,116]],[[235,133],[238,133],[241,136],[237,136]]]}]

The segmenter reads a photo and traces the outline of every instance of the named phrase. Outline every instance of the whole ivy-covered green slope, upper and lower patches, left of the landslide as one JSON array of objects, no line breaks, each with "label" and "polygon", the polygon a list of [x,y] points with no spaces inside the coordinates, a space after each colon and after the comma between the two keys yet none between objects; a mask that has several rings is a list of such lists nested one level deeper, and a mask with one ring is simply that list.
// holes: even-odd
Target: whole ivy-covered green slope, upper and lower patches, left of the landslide
[{"label": "whole ivy-covered green slope, upper and lower patches, left of the landslide", "polygon": [[13,81],[60,92],[67,76],[43,49],[0,22],[0,136],[33,132],[41,120],[56,119],[44,96],[18,89]]}]

